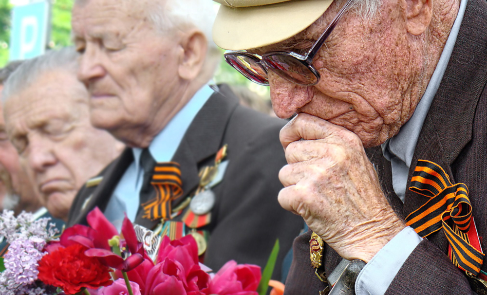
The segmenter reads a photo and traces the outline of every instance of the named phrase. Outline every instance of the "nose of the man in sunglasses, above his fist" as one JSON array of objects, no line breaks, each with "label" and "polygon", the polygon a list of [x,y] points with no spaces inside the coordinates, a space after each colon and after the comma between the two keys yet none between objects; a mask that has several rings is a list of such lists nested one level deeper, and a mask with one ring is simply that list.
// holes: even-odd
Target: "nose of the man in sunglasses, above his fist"
[{"label": "nose of the man in sunglasses, above his fist", "polygon": [[291,117],[313,98],[311,87],[291,83],[272,71],[269,71],[267,78],[269,79],[272,108],[282,119]]}]

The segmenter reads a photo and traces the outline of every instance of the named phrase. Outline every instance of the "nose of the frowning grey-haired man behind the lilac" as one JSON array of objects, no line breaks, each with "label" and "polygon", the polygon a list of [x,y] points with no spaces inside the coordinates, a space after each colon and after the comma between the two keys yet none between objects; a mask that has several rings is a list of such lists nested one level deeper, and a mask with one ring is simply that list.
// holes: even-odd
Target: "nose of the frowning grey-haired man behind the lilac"
[{"label": "nose of the frowning grey-haired man behind the lilac", "polygon": [[40,135],[29,138],[29,147],[26,151],[29,169],[35,172],[43,172],[49,166],[56,165],[57,163],[53,144]]}]

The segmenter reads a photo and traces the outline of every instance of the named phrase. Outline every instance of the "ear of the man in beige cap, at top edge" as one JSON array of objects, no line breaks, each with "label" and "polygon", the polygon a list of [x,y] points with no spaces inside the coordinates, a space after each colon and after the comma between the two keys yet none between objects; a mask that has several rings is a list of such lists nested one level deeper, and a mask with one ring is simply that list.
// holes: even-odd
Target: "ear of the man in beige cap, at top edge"
[{"label": "ear of the man in beige cap, at top edge", "polygon": [[421,35],[430,26],[433,0],[406,0],[406,26],[412,35]]}]

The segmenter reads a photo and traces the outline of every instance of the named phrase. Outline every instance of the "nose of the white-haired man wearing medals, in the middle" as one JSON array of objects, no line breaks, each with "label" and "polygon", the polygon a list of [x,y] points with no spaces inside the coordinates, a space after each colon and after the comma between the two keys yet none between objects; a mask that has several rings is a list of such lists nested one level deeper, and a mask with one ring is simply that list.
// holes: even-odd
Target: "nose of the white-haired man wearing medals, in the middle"
[{"label": "nose of the white-haired man wearing medals, in the middle", "polygon": [[91,81],[106,74],[100,58],[100,49],[88,43],[85,51],[79,56],[77,78],[87,86]]}]

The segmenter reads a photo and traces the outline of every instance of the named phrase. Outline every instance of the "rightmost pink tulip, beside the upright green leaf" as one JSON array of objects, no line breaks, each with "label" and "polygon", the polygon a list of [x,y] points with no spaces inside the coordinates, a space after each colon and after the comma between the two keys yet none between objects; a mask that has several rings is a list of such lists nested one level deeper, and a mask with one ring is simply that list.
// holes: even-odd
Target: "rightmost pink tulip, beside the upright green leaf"
[{"label": "rightmost pink tulip, beside the upright green leaf", "polygon": [[230,260],[210,281],[208,293],[218,295],[257,295],[261,281],[261,268],[257,265],[242,264]]}]

